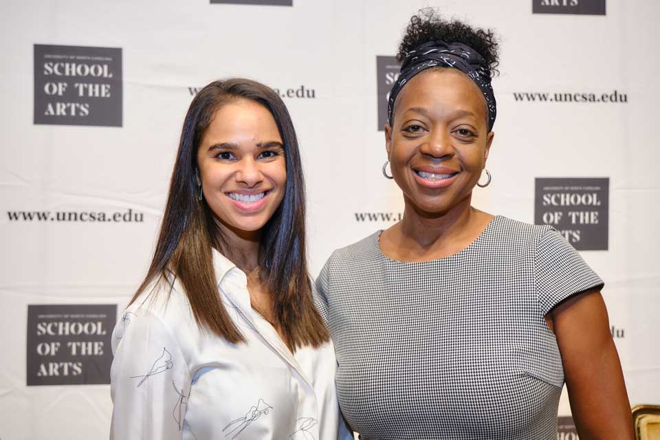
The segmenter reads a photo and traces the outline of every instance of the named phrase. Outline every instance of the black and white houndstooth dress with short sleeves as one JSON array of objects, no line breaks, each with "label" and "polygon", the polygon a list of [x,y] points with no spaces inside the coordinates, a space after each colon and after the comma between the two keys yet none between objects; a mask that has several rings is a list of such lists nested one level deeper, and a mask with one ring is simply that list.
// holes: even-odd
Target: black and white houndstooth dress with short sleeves
[{"label": "black and white houndstooth dress with short sleeves", "polygon": [[601,279],[550,226],[495,217],[470,246],[405,263],[380,232],[316,287],[340,407],[362,440],[555,439],[564,371],[544,316]]}]

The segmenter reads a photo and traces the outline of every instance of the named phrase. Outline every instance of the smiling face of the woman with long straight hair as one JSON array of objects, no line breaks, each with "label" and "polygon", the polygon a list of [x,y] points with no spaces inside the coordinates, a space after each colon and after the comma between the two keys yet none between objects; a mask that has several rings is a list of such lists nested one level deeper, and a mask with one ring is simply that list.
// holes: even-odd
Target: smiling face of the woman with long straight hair
[{"label": "smiling face of the woman with long straight hair", "polygon": [[197,166],[209,208],[239,234],[261,230],[284,197],[282,138],[270,111],[252,100],[215,112],[199,142]]}]

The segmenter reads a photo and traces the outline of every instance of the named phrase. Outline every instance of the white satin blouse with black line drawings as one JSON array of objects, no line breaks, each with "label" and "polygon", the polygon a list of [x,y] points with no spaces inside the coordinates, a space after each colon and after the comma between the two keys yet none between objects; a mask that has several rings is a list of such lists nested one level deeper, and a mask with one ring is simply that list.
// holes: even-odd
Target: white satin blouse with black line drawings
[{"label": "white satin blouse with black line drawings", "polygon": [[353,439],[339,412],[331,342],[295,355],[250,306],[247,278],[213,251],[218,292],[246,342],[201,330],[175,281],[113,331],[111,439]]}]

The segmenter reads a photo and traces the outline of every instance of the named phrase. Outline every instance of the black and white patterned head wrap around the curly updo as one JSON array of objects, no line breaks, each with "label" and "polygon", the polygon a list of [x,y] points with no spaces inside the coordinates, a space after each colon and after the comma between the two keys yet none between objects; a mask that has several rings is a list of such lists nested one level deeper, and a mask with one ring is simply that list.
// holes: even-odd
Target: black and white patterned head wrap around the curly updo
[{"label": "black and white patterned head wrap around the curly updo", "polygon": [[462,43],[444,43],[443,41],[428,41],[406,54],[406,58],[401,64],[401,74],[392,86],[387,102],[387,119],[390,125],[392,124],[394,102],[401,89],[413,76],[431,67],[454,67],[472,78],[486,99],[488,130],[492,130],[497,110],[485,60],[475,50]]}]

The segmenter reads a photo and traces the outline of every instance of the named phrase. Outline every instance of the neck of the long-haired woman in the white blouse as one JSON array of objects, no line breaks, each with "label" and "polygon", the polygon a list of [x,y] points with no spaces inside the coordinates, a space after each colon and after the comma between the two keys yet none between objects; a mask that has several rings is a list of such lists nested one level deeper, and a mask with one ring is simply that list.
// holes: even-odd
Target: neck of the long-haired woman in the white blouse
[{"label": "neck of the long-haired woman in the white blouse", "polygon": [[216,220],[219,251],[245,274],[259,267],[261,230],[244,231]]}]

